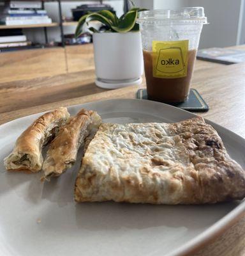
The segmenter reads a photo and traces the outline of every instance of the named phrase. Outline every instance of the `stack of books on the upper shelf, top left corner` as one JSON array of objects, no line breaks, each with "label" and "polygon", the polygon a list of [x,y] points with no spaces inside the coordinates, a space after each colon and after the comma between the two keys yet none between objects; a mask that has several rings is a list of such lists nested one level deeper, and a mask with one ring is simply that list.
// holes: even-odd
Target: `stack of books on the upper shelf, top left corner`
[{"label": "stack of books on the upper shelf, top left corner", "polygon": [[6,26],[50,24],[52,20],[47,12],[41,9],[41,2],[33,1],[10,1],[6,10]]}]

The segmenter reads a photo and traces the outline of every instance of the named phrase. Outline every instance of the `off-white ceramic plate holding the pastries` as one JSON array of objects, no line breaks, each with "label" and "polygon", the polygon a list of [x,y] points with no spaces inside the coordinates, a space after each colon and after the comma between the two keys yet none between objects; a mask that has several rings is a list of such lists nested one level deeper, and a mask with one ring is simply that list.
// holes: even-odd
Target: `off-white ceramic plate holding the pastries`
[{"label": "off-white ceramic plate holding the pastries", "polygon": [[[192,113],[145,100],[107,100],[69,108],[94,109],[104,122],[178,122]],[[51,182],[39,174],[6,173],[3,158],[38,115],[0,127],[0,255],[183,255],[207,242],[244,211],[244,202],[140,205],[73,202],[79,163]],[[245,141],[212,124],[245,167]],[[80,158],[78,159],[80,162]]]}]

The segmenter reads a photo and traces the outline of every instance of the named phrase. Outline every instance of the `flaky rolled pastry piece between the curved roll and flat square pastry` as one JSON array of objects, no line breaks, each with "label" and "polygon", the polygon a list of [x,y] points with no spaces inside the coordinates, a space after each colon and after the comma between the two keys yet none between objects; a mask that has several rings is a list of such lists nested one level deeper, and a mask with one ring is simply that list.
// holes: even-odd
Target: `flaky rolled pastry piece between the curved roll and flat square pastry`
[{"label": "flaky rolled pastry piece between the curved roll and flat square pastry", "polygon": [[85,138],[93,138],[100,124],[101,118],[95,111],[82,109],[68,124],[61,127],[43,163],[45,177],[59,176],[70,168]]}]

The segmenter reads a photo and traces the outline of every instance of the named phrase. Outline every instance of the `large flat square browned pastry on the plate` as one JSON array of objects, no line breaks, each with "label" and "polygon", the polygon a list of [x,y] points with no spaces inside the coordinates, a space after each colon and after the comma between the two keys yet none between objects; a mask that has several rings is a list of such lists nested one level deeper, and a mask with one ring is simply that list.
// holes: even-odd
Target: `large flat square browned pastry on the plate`
[{"label": "large flat square browned pastry on the plate", "polygon": [[77,202],[205,204],[244,196],[244,170],[201,117],[102,124],[75,184]]}]

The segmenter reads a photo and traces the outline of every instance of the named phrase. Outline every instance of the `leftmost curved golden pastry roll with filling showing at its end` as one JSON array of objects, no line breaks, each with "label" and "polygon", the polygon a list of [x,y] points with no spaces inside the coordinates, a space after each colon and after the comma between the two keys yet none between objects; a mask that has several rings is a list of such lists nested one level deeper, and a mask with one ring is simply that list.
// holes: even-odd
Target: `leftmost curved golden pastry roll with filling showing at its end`
[{"label": "leftmost curved golden pastry roll with filling showing at its end", "polygon": [[70,117],[66,108],[58,108],[36,119],[22,132],[11,154],[4,159],[8,171],[38,172],[43,164],[41,150],[57,129]]}]

